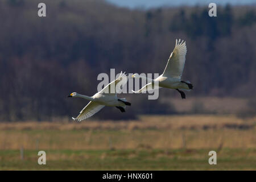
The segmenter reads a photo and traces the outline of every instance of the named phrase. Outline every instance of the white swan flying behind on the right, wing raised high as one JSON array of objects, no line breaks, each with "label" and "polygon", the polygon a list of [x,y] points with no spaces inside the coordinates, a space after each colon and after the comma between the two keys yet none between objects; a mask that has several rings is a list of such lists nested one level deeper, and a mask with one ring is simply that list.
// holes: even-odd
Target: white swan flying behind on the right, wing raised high
[{"label": "white swan flying behind on the right, wing raised high", "polygon": [[[181,76],[183,73],[184,65],[185,65],[185,56],[187,53],[187,47],[186,43],[177,41],[174,51],[172,51],[166,68],[164,69],[164,72],[159,77],[155,78],[154,80],[151,80],[150,78],[139,76],[137,73],[135,73],[132,77],[141,77],[144,79],[149,79],[150,83],[143,86],[141,89],[139,89],[137,92],[134,93],[142,93],[146,92],[147,90],[156,89],[159,87],[163,88],[170,88],[170,89],[176,89],[180,95],[181,98],[185,98],[185,93],[181,90],[191,90],[193,88],[193,85],[189,81],[181,81]],[[158,82],[158,85],[157,85]]]}]

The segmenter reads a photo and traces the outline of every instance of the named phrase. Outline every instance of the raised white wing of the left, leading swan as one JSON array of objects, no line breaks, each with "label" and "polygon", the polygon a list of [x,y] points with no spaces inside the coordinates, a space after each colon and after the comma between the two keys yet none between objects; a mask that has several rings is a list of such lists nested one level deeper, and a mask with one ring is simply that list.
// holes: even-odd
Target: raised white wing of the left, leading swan
[{"label": "raised white wing of the left, leading swan", "polygon": [[117,94],[121,93],[122,86],[124,86],[128,81],[125,73],[120,73],[119,77],[114,81],[110,82],[107,86],[104,87],[99,93],[101,94]]}]

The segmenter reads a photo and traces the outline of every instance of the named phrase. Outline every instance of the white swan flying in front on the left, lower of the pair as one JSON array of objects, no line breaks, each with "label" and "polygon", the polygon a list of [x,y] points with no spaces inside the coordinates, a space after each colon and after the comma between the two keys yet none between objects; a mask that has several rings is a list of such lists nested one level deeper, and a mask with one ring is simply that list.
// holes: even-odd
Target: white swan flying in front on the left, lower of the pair
[{"label": "white swan flying in front on the left, lower of the pair", "polygon": [[76,121],[87,119],[100,111],[104,106],[115,106],[121,110],[121,112],[125,112],[126,105],[130,106],[131,104],[126,101],[126,98],[118,98],[117,93],[121,90],[121,85],[125,85],[126,82],[127,76],[125,73],[121,72],[117,79],[110,82],[110,84],[92,97],[84,96],[76,92],[71,93],[68,97],[80,97],[90,101],[89,104],[80,111],[80,114],[72,119]]}]

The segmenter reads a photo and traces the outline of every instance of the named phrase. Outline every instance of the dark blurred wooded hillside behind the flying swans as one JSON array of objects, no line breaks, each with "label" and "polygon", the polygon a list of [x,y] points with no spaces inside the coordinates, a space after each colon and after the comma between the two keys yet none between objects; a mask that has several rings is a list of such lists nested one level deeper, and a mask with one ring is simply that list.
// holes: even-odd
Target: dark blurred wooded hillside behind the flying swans
[{"label": "dark blurred wooded hillside behind the flying swans", "polygon": [[[97,75],[110,68],[162,73],[176,38],[187,42],[183,79],[195,85],[189,97],[255,96],[255,6],[218,6],[217,17],[209,17],[201,6],[129,10],[101,0],[45,0],[47,16],[39,18],[39,2],[0,1],[0,121],[76,116],[87,102],[68,94],[92,96]],[[115,119],[175,112],[146,96],[123,95],[134,104]],[[160,90],[165,95],[179,97]]]}]

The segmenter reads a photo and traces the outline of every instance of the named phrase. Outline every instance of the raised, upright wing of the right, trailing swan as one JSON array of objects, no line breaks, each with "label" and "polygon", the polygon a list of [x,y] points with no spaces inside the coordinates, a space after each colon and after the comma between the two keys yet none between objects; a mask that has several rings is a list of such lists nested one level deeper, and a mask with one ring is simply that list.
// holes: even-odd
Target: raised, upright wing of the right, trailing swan
[{"label": "raised, upright wing of the right, trailing swan", "polygon": [[176,39],[174,51],[172,51],[171,56],[168,59],[163,76],[181,78],[185,65],[186,53],[186,43],[183,42],[183,40],[180,42],[180,39],[179,41]]}]

